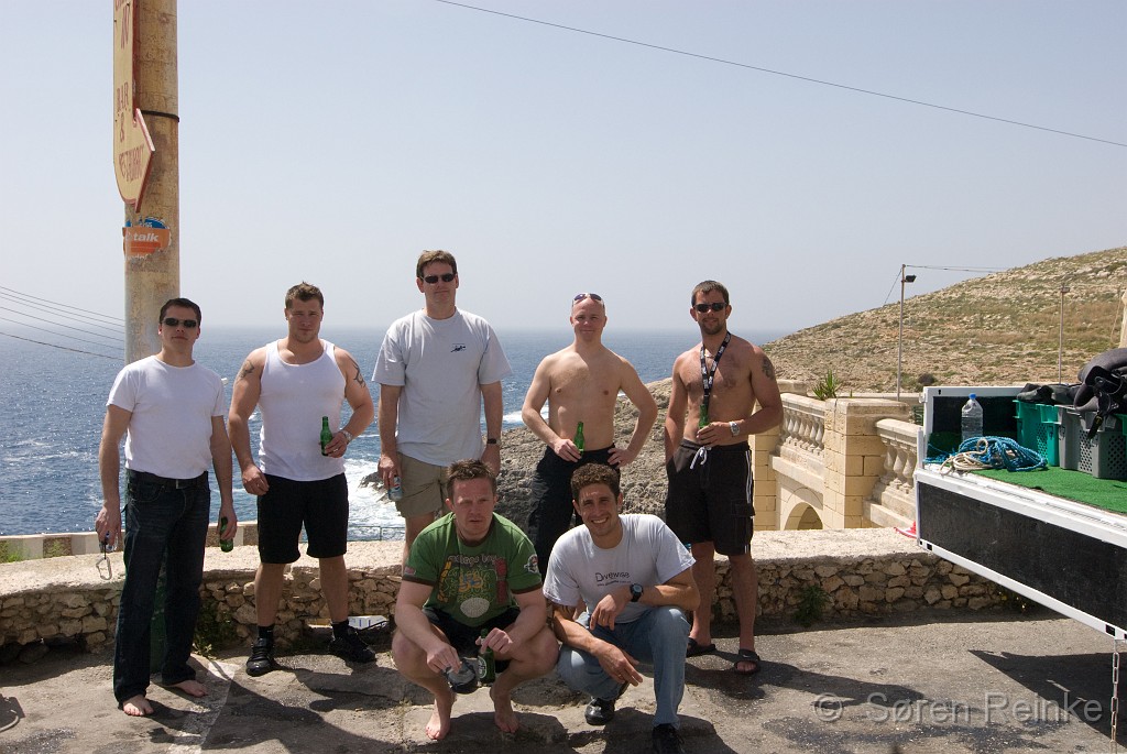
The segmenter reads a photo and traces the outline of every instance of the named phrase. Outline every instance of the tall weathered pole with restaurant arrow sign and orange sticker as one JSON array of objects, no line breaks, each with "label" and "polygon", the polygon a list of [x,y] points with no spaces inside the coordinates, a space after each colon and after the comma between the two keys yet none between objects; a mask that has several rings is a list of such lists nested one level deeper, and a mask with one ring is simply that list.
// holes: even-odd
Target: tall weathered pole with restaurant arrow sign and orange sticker
[{"label": "tall weathered pole with restaurant arrow sign and orange sticker", "polygon": [[114,0],[114,157],[125,202],[125,362],[132,363],[160,351],[157,314],[180,289],[176,0]]}]

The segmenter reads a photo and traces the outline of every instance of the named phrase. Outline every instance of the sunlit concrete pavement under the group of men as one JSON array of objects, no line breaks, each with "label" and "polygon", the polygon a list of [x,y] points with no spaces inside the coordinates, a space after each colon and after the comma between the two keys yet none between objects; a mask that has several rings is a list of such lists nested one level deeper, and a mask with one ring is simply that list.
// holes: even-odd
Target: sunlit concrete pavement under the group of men
[{"label": "sunlit concrete pavement under the group of men", "polygon": [[[719,654],[687,660],[685,747],[698,754],[1111,751],[1111,639],[1035,610],[809,630],[761,621],[764,668],[751,677],[730,671],[736,639],[721,636]],[[649,677],[627,692],[602,729],[584,721],[586,699],[549,676],[517,689],[517,734],[494,726],[488,691],[479,690],[459,698],[450,736],[428,742],[431,700],[394,671],[388,645],[378,638],[378,659],[366,666],[326,654],[279,656],[285,669],[258,678],[243,672],[245,650],[228,653],[202,660],[206,699],[153,685],[156,713],[142,719],[117,710],[107,653],[53,650],[32,665],[0,666],[0,754],[648,751]],[[1127,739],[1125,727],[1120,711],[1119,740]]]}]

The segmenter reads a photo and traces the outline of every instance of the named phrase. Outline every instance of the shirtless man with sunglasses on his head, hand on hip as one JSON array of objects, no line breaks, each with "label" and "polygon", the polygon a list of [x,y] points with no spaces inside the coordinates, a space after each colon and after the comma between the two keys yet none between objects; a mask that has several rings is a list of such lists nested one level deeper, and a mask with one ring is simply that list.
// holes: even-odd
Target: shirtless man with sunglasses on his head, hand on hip
[{"label": "shirtless man with sunglasses on his head, hand on hip", "polygon": [[[657,420],[657,402],[638,372],[603,345],[603,298],[597,293],[576,295],[570,321],[575,341],[540,362],[521,409],[524,424],[548,445],[532,478],[533,508],[525,526],[542,574],[548,573],[556,540],[571,527],[571,472],[592,462],[621,469],[638,458]],[[638,409],[625,449],[614,446],[614,406],[620,390]],[[547,422],[540,413],[545,401]],[[583,450],[575,443],[580,422]]]}]

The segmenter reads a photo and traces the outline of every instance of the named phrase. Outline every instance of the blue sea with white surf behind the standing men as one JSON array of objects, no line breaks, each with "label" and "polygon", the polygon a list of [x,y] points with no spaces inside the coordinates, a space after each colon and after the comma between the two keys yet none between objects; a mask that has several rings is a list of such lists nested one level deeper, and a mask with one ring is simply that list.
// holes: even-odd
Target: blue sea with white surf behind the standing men
[{"label": "blue sea with white surf behind the standing men", "polygon": [[[12,329],[12,332],[19,330]],[[123,357],[106,358],[80,343],[44,345],[34,334],[26,339],[0,334],[0,536],[83,532],[94,529],[101,507],[98,443],[106,397]],[[194,355],[227,382],[228,401],[234,375],[254,348],[284,335],[279,328],[204,327]],[[774,340],[786,331],[738,332],[753,343]],[[322,330],[321,336],[348,349],[370,379],[382,331]],[[503,381],[504,428],[521,426],[521,405],[540,360],[571,341],[571,331],[502,331],[513,374]],[[699,339],[693,328],[677,331],[606,331],[603,343],[629,360],[642,382],[669,376],[673,360]],[[57,338],[55,338],[57,341]],[[88,353],[83,353],[87,351]],[[347,403],[345,416],[347,416]],[[658,417],[658,420],[663,420]],[[258,414],[251,418],[251,447],[257,452]],[[313,427],[312,431],[318,431]],[[502,451],[504,453],[504,450]],[[345,456],[349,484],[349,539],[396,539],[402,520],[382,488],[361,486],[376,470],[380,438],[375,423],[357,437]],[[124,462],[124,453],[123,453]],[[123,488],[124,489],[124,488]],[[234,507],[240,521],[257,518],[255,498],[239,484],[234,464]],[[212,521],[219,494],[212,481]],[[399,534],[401,536],[401,534]]]}]

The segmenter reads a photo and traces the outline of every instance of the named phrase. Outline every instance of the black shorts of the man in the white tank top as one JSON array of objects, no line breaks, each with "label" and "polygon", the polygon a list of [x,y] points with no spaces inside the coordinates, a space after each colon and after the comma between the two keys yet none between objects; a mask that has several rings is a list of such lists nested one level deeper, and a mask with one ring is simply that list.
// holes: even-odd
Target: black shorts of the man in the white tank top
[{"label": "black shorts of the man in the white tank top", "polygon": [[258,558],[294,562],[305,526],[310,558],[336,558],[348,549],[348,482],[343,473],[318,481],[266,474],[270,486],[258,497]]}]

